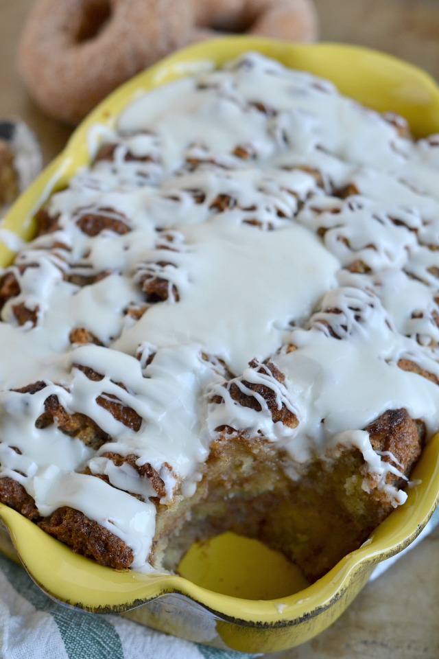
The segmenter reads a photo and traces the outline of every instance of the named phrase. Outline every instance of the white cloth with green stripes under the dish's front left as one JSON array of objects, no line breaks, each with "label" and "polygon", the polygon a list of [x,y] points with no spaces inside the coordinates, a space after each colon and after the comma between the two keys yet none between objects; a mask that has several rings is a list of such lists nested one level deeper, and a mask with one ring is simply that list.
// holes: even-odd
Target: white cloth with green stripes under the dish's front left
[{"label": "white cloth with green stripes under the dish's front left", "polygon": [[0,659],[250,659],[49,599],[0,554]]}]

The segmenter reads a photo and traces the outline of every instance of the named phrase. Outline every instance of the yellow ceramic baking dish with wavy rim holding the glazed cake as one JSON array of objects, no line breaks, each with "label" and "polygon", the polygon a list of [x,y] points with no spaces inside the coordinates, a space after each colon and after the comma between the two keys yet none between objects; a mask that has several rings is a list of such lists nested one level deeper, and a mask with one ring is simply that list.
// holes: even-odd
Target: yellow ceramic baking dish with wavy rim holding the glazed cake
[{"label": "yellow ceramic baking dish with wavy rim holding the glazed cake", "polygon": [[[285,65],[332,80],[346,95],[378,111],[407,118],[422,137],[439,132],[439,88],[426,73],[376,51],[348,45],[296,45],[230,37],[189,47],[122,86],[74,132],[67,148],[27,189],[1,225],[0,264],[13,254],[15,235],[32,237],[32,216],[48,196],[86,165],[97,147],[97,126],[112,126],[134,97],[195,71],[258,50]],[[239,564],[239,540],[226,534],[194,548],[182,576],[117,572],[73,554],[16,511],[0,505],[0,549],[21,559],[51,597],[93,612],[119,612],[139,623],[216,647],[273,652],[308,640],[328,627],[354,599],[374,566],[410,544],[439,498],[439,435],[431,439],[412,476],[407,502],[357,551],[312,586],[296,579],[278,555],[251,547]],[[12,542],[11,542],[12,540]],[[237,544],[238,543],[238,544]]]}]

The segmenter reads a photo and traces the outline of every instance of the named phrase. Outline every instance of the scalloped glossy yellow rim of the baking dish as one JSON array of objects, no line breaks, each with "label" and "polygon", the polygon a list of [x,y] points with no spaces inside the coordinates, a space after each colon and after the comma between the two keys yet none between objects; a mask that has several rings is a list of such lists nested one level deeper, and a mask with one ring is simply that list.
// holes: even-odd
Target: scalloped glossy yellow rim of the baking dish
[{"label": "scalloped glossy yellow rim of the baking dish", "polygon": [[[114,124],[121,109],[139,93],[174,78],[219,65],[246,50],[259,50],[286,65],[333,80],[342,93],[378,111],[395,111],[404,115],[416,137],[439,132],[439,86],[427,73],[403,60],[344,44],[304,45],[241,36],[219,38],[168,56],[99,104],[73,132],[64,151],[16,201],[1,228],[19,234],[25,240],[31,238],[33,221],[30,218],[36,209],[52,192],[63,187],[78,168],[90,161],[96,126]],[[6,265],[11,257],[10,249],[0,243],[0,263]],[[175,575],[145,575],[132,570],[117,572],[99,566],[75,555],[67,546],[2,504],[0,524],[3,521],[8,528],[16,553],[29,574],[58,601],[96,612],[123,612],[163,594],[176,593],[200,604],[220,620],[247,628],[265,627],[274,632],[323,614],[322,621],[313,629],[313,636],[333,620],[333,616],[327,614],[331,604],[340,601],[347,590],[352,590],[355,597],[373,566],[401,551],[425,527],[439,499],[439,434],[427,443],[416,465],[413,481],[407,502],[395,509],[366,543],[344,557],[316,583],[278,601],[246,600],[211,592]],[[1,542],[0,551],[10,555]],[[342,610],[353,597],[347,598]],[[282,608],[276,608],[276,603],[281,603]],[[139,614],[136,619],[139,621]],[[311,637],[309,630],[304,634],[300,638],[283,640],[281,645],[270,642],[268,649],[264,649],[274,651],[292,647]],[[237,649],[248,649],[245,641],[243,647],[239,643],[232,645]]]}]

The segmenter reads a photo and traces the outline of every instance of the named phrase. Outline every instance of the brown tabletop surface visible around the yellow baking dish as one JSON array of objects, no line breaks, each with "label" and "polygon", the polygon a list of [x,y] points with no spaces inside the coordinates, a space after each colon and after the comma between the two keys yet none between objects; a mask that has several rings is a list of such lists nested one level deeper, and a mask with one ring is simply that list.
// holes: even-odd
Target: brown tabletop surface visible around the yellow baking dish
[{"label": "brown tabletop surface visible around the yellow baking dish", "polygon": [[[320,39],[387,51],[439,80],[439,0],[315,0]],[[0,118],[36,132],[45,162],[70,129],[32,104],[16,71],[16,45],[32,0],[0,0]],[[376,581],[332,627],[276,659],[439,659],[439,528]],[[127,658],[129,659],[129,658]]]}]

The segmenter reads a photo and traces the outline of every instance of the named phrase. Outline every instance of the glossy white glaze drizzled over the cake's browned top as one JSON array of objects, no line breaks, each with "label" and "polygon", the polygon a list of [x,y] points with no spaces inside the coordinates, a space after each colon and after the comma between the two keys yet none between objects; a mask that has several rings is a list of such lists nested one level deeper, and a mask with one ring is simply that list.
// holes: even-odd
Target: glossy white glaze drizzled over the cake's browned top
[{"label": "glossy white glaze drizzled over the cake's browned top", "polygon": [[[403,502],[385,485],[401,465],[364,430],[393,408],[439,428],[439,147],[401,125],[246,54],[139,97],[115,130],[93,128],[92,145],[116,145],[112,159],[52,196],[56,230],[20,246],[5,270],[19,293],[1,311],[0,476],[43,516],[67,505],[97,520],[145,571],[152,498],[195,491],[222,426],[279,443],[293,478],[356,447]],[[126,231],[87,235],[87,214]],[[166,299],[147,296],[154,277]],[[17,305],[36,322],[19,326]],[[72,345],[77,327],[102,345]],[[45,386],[13,391],[35,382]],[[275,423],[251,384],[272,389],[297,426]],[[56,423],[36,427],[49,396],[108,441],[95,450]],[[115,400],[138,428],[112,415]],[[108,452],[151,465],[161,491]]]}]

